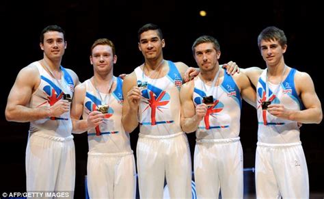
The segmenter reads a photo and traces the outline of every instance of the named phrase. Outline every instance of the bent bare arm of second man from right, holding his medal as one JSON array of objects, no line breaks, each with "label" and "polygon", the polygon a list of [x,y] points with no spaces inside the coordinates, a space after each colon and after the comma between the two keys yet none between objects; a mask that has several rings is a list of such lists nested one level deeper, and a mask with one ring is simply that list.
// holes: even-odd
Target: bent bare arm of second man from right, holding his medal
[{"label": "bent bare arm of second man from right, holding his medal", "polygon": [[181,101],[181,120],[180,124],[183,131],[191,133],[198,129],[198,125],[204,118],[207,108],[201,104],[195,107],[192,101],[193,96],[193,81],[185,83],[180,90]]}]

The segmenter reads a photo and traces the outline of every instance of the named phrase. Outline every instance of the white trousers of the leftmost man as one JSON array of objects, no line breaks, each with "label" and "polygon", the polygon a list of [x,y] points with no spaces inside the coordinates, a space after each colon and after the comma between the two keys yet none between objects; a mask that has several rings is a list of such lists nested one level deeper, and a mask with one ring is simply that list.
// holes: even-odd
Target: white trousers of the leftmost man
[{"label": "white trousers of the leftmost man", "polygon": [[[26,148],[27,191],[68,191],[75,189],[75,143],[73,136],[30,135]],[[44,193],[45,195],[45,193]],[[46,198],[45,196],[40,198]]]}]

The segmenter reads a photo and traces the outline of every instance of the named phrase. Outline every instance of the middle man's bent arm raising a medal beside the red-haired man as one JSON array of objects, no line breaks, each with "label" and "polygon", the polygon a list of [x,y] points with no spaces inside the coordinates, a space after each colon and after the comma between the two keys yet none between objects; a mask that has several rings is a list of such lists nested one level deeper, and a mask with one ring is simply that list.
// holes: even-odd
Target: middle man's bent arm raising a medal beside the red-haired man
[{"label": "middle man's bent arm raising a medal beside the red-haired man", "polygon": [[136,85],[136,75],[132,72],[122,83],[124,105],[122,106],[122,125],[126,132],[131,133],[138,125],[138,109],[141,100],[141,91]]}]

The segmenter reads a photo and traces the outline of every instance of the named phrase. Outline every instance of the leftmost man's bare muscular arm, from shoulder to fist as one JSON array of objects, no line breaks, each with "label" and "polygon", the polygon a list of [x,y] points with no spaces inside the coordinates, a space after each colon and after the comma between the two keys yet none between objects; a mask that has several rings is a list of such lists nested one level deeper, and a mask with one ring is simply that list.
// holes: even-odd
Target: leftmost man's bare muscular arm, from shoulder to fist
[{"label": "leftmost man's bare muscular arm, from shoulder to fist", "polygon": [[51,116],[60,116],[69,111],[70,103],[64,100],[57,101],[51,107],[30,108],[31,95],[39,83],[40,75],[36,66],[27,66],[18,73],[5,107],[5,118],[8,121],[31,122]]}]

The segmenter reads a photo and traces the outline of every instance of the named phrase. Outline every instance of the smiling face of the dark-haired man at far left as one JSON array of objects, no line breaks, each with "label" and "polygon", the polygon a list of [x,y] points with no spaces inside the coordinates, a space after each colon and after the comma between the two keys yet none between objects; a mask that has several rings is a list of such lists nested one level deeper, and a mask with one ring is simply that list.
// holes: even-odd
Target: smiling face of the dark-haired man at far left
[{"label": "smiling face of the dark-haired man at far left", "polygon": [[46,31],[44,40],[40,43],[40,49],[49,59],[62,59],[66,49],[64,34],[59,31]]}]

